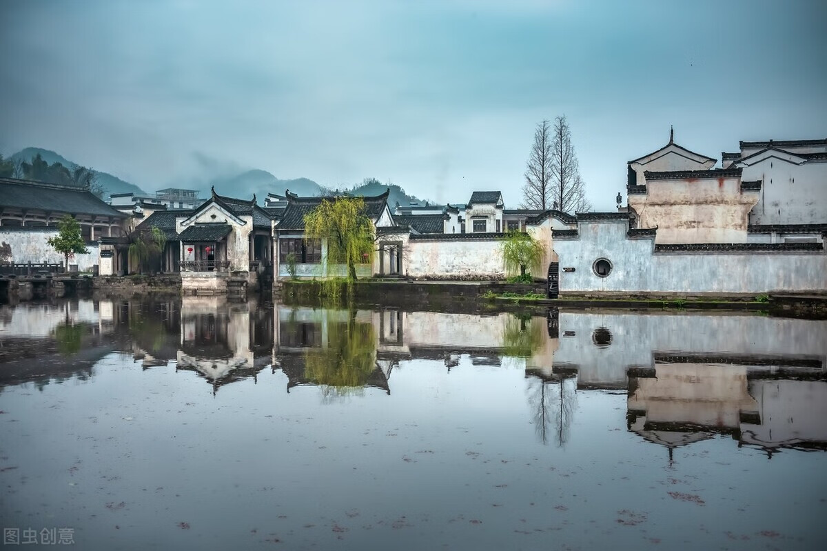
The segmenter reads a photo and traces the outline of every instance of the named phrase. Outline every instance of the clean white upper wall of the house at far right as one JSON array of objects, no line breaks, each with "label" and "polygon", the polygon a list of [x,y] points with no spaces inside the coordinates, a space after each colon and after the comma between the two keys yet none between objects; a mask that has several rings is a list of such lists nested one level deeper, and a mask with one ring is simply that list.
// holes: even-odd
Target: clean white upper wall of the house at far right
[{"label": "clean white upper wall of the house at far right", "polygon": [[770,157],[743,165],[744,181],[762,180],[753,224],[827,223],[827,162],[796,165]]}]

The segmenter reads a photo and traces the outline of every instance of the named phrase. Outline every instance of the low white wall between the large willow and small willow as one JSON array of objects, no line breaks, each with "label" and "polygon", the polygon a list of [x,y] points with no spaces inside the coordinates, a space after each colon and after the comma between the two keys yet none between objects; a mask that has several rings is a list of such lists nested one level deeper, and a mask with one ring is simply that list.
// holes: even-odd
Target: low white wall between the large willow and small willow
[{"label": "low white wall between the large willow and small willow", "polygon": [[411,277],[489,280],[505,277],[501,242],[495,239],[411,240],[405,266]]}]

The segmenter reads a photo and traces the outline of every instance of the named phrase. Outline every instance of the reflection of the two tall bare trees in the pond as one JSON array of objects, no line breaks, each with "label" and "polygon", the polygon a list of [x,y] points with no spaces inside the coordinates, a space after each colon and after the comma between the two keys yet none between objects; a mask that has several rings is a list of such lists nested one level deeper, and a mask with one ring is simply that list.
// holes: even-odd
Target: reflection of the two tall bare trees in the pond
[{"label": "reflection of the two tall bare trees in the pond", "polygon": [[557,446],[564,446],[569,439],[571,419],[577,405],[576,377],[529,377],[528,403],[533,408],[534,429],[540,442],[548,443],[551,437]]}]

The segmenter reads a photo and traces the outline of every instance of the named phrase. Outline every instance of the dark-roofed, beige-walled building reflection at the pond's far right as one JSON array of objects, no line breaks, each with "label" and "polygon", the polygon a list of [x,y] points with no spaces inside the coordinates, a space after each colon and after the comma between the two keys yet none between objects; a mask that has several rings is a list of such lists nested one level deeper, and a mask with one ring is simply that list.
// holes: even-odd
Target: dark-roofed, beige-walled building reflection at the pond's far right
[{"label": "dark-roofed, beige-walled building reflection at the pond's far right", "polygon": [[771,451],[827,448],[827,374],[820,362],[718,363],[726,359],[656,357],[653,370],[630,371],[629,430],[669,448],[670,458],[674,448],[715,434]]}]

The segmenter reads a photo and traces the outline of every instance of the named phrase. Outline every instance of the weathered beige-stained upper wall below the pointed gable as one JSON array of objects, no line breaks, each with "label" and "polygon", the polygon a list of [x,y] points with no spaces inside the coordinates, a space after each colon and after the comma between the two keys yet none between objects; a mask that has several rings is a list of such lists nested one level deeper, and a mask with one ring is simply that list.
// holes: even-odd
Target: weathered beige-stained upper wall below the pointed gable
[{"label": "weathered beige-stained upper wall below the pointed gable", "polygon": [[646,194],[629,195],[638,228],[657,228],[658,243],[743,243],[755,192],[739,178],[649,180]]}]

